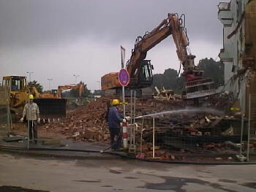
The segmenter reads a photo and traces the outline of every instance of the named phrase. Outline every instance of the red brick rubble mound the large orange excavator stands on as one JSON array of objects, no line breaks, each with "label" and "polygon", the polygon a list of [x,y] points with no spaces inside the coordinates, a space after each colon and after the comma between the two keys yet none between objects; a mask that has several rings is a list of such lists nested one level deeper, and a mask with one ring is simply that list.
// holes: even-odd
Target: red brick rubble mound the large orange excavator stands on
[{"label": "red brick rubble mound the large orange excavator stands on", "polygon": [[[130,115],[130,104],[127,99],[127,115]],[[106,113],[108,108],[108,99],[99,98],[96,101],[90,101],[86,106],[77,108],[69,112],[67,118],[55,123],[46,123],[42,127],[49,131],[64,134],[67,139],[80,141],[105,141],[110,139]],[[183,104],[179,104],[183,106]],[[167,101],[157,101],[155,99],[136,99],[136,116],[147,115],[151,112],[161,112],[170,110],[175,104]],[[121,111],[119,106],[119,111]]]}]

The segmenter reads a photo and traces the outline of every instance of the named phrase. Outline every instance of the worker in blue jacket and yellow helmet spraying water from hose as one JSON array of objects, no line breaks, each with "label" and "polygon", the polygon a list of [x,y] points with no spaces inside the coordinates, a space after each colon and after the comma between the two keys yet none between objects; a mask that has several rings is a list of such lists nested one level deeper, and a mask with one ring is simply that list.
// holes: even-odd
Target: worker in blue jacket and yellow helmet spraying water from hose
[{"label": "worker in blue jacket and yellow helmet spraying water from hose", "polygon": [[113,99],[108,112],[108,126],[110,130],[110,142],[112,150],[120,150],[121,148],[121,126],[120,123],[125,123],[126,120],[117,110],[117,105],[120,104],[118,99]]}]

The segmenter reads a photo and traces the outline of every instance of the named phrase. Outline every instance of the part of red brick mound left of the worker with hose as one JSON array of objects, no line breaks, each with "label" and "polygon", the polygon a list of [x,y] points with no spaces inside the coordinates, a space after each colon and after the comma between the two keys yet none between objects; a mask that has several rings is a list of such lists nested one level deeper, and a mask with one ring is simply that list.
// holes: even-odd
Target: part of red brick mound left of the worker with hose
[{"label": "part of red brick mound left of the worker with hose", "polygon": [[103,99],[91,101],[84,107],[69,112],[60,122],[42,125],[49,131],[59,132],[67,139],[89,142],[108,141],[108,124],[105,120],[107,103]]}]

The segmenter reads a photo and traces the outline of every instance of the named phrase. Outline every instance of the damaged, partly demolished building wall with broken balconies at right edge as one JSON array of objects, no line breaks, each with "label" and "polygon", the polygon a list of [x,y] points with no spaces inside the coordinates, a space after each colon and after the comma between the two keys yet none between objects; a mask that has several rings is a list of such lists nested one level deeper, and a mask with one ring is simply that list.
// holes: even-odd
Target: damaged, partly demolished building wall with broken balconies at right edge
[{"label": "damaged, partly demolished building wall with broken balconies at right edge", "polygon": [[233,93],[241,110],[247,112],[249,93],[256,93],[256,0],[231,0],[218,7],[223,24],[219,58],[225,64],[225,91]]}]

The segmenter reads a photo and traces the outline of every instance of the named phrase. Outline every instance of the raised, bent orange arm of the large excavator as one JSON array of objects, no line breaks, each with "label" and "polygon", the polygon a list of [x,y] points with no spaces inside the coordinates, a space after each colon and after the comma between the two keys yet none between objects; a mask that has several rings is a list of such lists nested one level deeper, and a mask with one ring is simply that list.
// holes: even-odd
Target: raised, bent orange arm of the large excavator
[{"label": "raised, bent orange arm of the large excavator", "polygon": [[145,34],[144,37],[138,37],[136,39],[135,48],[132,50],[132,56],[127,64],[127,71],[131,77],[138,77],[138,69],[141,66],[141,61],[146,58],[148,50],[151,50],[152,47],[170,35],[173,36],[178,59],[181,61],[184,71],[195,69],[195,55],[188,55],[187,53],[189,41],[186,28],[182,26],[182,23],[184,23],[182,18],[184,18],[183,15],[181,15],[181,18],[178,18],[177,14],[169,13],[167,19],[162,20],[162,23],[157,28]]}]

